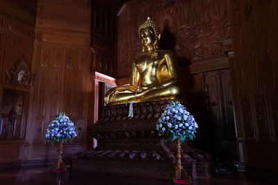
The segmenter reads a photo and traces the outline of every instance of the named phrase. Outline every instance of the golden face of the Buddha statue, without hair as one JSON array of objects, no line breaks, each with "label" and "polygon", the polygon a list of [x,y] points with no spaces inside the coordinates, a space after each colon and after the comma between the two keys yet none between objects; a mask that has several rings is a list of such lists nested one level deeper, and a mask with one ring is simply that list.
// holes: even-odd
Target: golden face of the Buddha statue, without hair
[{"label": "golden face of the Buddha statue, without hair", "polygon": [[156,44],[156,35],[152,27],[142,28],[140,30],[141,44],[145,49],[153,49]]}]

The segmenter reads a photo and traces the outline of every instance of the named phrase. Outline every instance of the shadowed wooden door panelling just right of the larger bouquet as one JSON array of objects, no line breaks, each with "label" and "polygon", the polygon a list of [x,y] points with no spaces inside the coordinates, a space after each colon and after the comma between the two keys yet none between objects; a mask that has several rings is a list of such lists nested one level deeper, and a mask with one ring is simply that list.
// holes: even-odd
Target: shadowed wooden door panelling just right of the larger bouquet
[{"label": "shadowed wooden door panelling just right of the larger bouquet", "polygon": [[237,160],[229,69],[208,71],[188,78],[183,80],[188,87],[185,99],[199,123],[197,140],[200,147],[211,150],[217,159]]}]

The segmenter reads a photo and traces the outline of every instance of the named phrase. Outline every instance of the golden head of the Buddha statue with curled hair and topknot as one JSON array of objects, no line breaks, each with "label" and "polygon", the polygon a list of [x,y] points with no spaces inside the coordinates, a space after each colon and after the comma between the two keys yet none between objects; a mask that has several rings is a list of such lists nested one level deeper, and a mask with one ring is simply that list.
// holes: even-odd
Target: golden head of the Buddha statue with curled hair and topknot
[{"label": "golden head of the Buddha statue with curled hair and topknot", "polygon": [[147,17],[147,20],[138,29],[139,37],[142,44],[142,51],[149,52],[158,49],[158,40],[161,35],[156,23]]}]

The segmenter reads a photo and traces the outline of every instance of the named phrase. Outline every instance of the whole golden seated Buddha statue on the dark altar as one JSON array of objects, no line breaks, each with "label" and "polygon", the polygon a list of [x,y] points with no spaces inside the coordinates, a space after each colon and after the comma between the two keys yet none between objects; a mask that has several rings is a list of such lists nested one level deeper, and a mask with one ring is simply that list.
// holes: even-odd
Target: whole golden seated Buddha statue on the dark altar
[{"label": "whole golden seated Buddha statue on the dark altar", "polygon": [[130,85],[114,87],[104,96],[106,105],[177,98],[177,62],[174,53],[158,49],[159,28],[147,17],[138,29],[143,55],[133,61]]}]

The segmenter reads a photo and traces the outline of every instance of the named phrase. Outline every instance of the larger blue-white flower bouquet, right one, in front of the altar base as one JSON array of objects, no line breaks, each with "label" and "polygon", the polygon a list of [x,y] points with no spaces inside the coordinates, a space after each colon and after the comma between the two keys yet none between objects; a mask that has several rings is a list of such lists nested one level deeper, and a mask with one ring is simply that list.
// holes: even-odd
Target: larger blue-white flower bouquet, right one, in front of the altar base
[{"label": "larger blue-white flower bouquet, right one, in front of the altar base", "polygon": [[167,105],[156,124],[158,134],[164,136],[165,141],[173,141],[177,138],[180,138],[181,142],[185,139],[193,140],[197,128],[195,118],[179,101],[172,101]]}]

